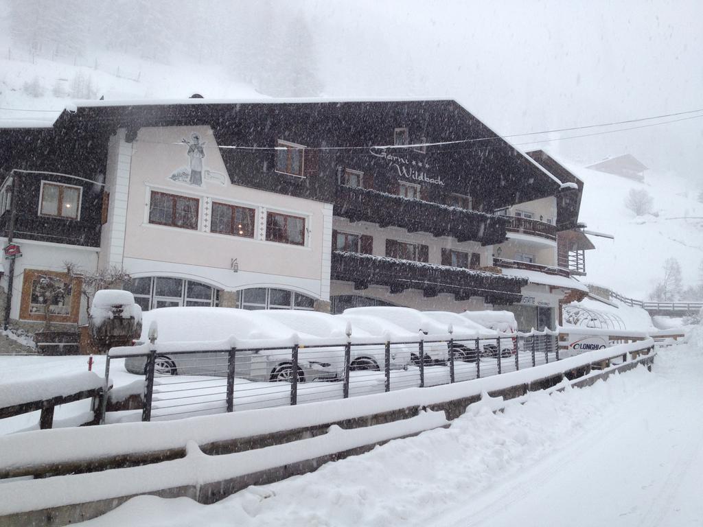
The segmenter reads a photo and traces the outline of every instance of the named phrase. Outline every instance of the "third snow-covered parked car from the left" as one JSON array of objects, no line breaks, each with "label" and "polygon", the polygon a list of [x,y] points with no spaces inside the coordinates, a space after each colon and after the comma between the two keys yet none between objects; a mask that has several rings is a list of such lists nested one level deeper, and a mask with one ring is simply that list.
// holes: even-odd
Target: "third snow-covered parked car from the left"
[{"label": "third snow-covered parked car from the left", "polygon": [[[446,336],[447,326],[437,323],[422,312],[413,308],[393,307],[393,306],[372,306],[345,309],[342,313],[344,317],[353,320],[352,317],[375,318],[382,325],[387,326],[387,331],[391,339],[394,337],[392,327],[400,327],[404,330],[398,337],[403,335],[403,340],[417,341],[420,338],[431,341],[433,335]],[[360,323],[360,319],[358,320]],[[367,323],[368,324],[368,323]],[[366,326],[370,328],[370,325]],[[368,329],[367,329],[368,330]],[[384,330],[386,331],[386,330]],[[400,340],[400,338],[399,338]],[[449,358],[449,347],[441,342],[426,342],[423,346],[425,353],[425,364],[446,364]],[[418,363],[420,358],[413,351],[413,363]],[[457,357],[460,360],[469,358]]]}]

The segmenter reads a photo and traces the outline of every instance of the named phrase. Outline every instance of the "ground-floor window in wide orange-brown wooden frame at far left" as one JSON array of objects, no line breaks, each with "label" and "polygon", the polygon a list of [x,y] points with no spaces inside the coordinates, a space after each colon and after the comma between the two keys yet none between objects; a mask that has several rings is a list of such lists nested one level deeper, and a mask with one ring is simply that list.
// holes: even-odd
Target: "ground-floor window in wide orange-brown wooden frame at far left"
[{"label": "ground-floor window in wide orange-brown wooden frame at far left", "polygon": [[67,273],[25,269],[22,280],[22,320],[77,323],[81,304],[81,281]]}]

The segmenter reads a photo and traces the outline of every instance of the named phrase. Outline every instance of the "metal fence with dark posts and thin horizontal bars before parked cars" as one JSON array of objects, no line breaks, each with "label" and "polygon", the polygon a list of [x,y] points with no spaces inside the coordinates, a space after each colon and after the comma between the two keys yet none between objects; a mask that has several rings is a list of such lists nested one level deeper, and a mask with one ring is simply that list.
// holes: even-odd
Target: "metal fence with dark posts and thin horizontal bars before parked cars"
[{"label": "metal fence with dark posts and thin horizontal bars before parked cars", "polygon": [[[186,343],[178,349],[152,346],[136,354],[115,349],[108,355],[105,379],[111,359],[126,358],[140,368],[143,363],[143,421],[437,386],[559,360],[557,334],[548,331],[205,351],[183,346]],[[104,417],[103,405],[103,422]]]}]

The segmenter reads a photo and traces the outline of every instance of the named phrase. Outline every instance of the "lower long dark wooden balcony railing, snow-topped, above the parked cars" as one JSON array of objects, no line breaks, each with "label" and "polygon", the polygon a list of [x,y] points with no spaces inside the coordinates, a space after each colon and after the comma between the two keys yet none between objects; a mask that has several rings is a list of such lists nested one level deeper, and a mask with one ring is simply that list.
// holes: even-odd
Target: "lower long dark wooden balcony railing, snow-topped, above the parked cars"
[{"label": "lower long dark wooden balcony railing, snow-topped, above the parked cars", "polygon": [[520,290],[527,285],[527,279],[515,276],[342,251],[332,253],[332,280],[354,282],[355,289],[385,285],[392,293],[420,289],[425,297],[484,297],[489,304],[519,302]]}]

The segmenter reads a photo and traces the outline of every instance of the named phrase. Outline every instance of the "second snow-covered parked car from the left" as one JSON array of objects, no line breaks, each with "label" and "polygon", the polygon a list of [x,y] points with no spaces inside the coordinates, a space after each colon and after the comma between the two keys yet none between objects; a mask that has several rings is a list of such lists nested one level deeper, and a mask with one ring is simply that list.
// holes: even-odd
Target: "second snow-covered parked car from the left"
[{"label": "second snow-covered parked car from the left", "polygon": [[[277,323],[286,325],[292,330],[301,331],[314,337],[346,337],[347,320],[328,313],[317,311],[295,311],[289,309],[259,311],[257,314],[263,318],[270,318]],[[360,325],[352,327],[351,358],[352,370],[384,370],[385,348],[370,346],[369,341],[380,341],[373,337],[381,334],[368,332]],[[363,344],[363,343],[366,343]],[[356,344],[356,345],[355,345]],[[402,370],[411,363],[411,349],[404,344],[391,345],[391,370]]]}]

